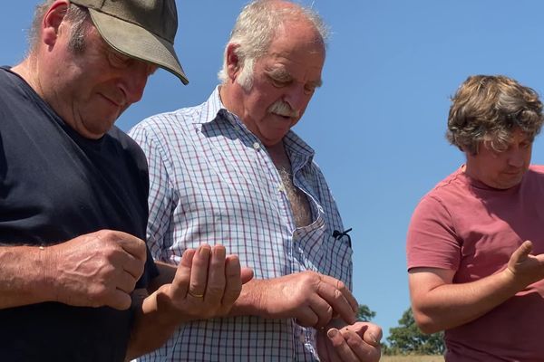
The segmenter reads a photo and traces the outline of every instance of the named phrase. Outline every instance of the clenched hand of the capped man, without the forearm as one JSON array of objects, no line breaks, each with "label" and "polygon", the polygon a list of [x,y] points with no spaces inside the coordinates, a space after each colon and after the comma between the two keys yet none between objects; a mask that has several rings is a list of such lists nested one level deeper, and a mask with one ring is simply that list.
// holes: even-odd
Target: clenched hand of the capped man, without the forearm
[{"label": "clenched hand of the capped man, without the forearm", "polygon": [[51,300],[78,307],[127,310],[146,260],[145,243],[110,230],[46,247]]}]

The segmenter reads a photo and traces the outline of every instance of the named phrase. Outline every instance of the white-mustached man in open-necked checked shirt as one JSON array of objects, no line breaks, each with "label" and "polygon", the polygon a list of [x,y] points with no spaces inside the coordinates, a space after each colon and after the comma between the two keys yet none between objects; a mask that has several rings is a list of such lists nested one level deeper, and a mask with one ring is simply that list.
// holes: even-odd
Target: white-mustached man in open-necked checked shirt
[{"label": "white-mustached man in open-necked checked shirt", "polygon": [[335,200],[314,150],[291,131],[322,83],[325,39],[313,10],[254,1],[209,100],[131,129],[150,167],[157,262],[222,243],[255,272],[229,317],[185,324],[141,360],[380,358],[382,330],[355,319],[352,249]]}]

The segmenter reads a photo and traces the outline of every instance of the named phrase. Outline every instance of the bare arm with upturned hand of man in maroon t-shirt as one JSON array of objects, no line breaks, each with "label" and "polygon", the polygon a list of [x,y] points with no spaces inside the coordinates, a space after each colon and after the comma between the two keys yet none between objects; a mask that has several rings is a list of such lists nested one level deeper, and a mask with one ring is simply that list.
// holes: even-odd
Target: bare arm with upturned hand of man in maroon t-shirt
[{"label": "bare arm with upturned hand of man in maroon t-shirt", "polygon": [[508,267],[479,281],[452,284],[454,271],[409,271],[413,318],[424,333],[434,333],[480,318],[529,284],[544,278],[544,254],[529,255],[525,242],[512,253]]}]

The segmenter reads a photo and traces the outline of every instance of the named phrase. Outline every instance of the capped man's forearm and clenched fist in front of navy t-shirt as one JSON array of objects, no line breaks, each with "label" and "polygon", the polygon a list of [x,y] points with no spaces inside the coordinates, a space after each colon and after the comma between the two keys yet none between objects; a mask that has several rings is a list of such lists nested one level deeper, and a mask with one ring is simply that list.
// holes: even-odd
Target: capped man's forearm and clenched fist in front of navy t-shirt
[{"label": "capped man's forearm and clenched fist in front of navy t-shirt", "polygon": [[0,246],[0,309],[44,301],[127,310],[145,243],[110,230],[53,246]]}]

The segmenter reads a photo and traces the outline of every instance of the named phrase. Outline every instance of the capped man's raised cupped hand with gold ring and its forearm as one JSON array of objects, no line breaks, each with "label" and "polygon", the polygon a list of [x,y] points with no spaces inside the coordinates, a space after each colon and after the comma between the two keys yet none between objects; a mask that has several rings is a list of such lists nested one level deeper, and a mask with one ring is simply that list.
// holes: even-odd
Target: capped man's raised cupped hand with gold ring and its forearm
[{"label": "capped man's raised cupped hand with gold ring and its forearm", "polygon": [[160,348],[182,323],[227,315],[253,276],[241,271],[238,256],[226,255],[222,245],[187,249],[178,267],[157,265],[161,276],[149,291],[133,293],[136,318],[127,360]]}]

